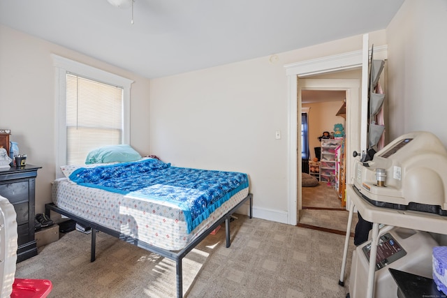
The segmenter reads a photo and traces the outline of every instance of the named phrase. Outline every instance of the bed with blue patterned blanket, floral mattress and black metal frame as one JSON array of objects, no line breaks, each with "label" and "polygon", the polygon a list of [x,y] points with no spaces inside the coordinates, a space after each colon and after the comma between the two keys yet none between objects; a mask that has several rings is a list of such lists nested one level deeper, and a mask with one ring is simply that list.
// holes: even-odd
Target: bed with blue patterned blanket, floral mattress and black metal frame
[{"label": "bed with blue patterned blanket, floral mattress and black metal frame", "polygon": [[252,198],[247,174],[173,167],[156,158],[61,167],[50,211],[90,227],[91,262],[96,230],[174,260],[182,297],[182,258]]}]

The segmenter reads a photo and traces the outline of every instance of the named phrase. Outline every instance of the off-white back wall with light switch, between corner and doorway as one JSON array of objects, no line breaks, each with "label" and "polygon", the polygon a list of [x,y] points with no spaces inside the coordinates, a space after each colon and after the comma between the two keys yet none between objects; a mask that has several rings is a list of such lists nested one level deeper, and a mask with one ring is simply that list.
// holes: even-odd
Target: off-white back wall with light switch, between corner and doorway
[{"label": "off-white back wall with light switch, between corner and doorway", "polygon": [[[376,45],[385,43],[384,30],[370,36]],[[152,80],[152,154],[177,166],[247,172],[254,216],[287,222],[284,65],[361,48],[362,36],[352,36],[279,53],[276,64],[261,57]],[[281,131],[280,140],[275,131]]]}]

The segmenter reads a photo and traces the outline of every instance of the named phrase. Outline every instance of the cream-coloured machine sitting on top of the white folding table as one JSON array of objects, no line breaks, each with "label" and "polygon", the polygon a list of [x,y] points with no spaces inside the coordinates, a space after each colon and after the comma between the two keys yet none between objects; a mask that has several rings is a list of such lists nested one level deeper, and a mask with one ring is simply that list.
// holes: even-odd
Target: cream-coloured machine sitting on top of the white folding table
[{"label": "cream-coloured machine sitting on top of the white folding table", "polygon": [[375,206],[447,216],[447,150],[432,133],[402,135],[354,171],[354,191]]}]

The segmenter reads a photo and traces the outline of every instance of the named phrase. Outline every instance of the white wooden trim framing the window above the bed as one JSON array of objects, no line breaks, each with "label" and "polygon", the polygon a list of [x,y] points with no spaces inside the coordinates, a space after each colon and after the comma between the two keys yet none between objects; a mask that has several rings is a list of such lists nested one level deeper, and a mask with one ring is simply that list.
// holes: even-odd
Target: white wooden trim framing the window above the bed
[{"label": "white wooden trim framing the window above the bed", "polygon": [[60,167],[66,163],[66,73],[74,73],[91,80],[111,84],[123,89],[123,135],[122,143],[131,140],[131,84],[133,80],[121,77],[105,70],[94,68],[56,54],[51,54],[54,72],[54,153],[56,155],[56,178],[63,177]]}]

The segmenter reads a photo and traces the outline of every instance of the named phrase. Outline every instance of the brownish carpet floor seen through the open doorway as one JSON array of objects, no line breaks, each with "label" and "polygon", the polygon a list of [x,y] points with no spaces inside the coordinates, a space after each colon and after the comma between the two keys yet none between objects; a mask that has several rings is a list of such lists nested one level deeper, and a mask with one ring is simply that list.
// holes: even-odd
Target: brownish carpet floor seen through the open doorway
[{"label": "brownish carpet floor seen through the open doorway", "polygon": [[[346,233],[348,217],[349,211],[342,207],[335,188],[323,182],[315,187],[302,188],[302,210],[298,212],[298,223]],[[357,214],[353,214],[352,233],[357,222]]]}]

